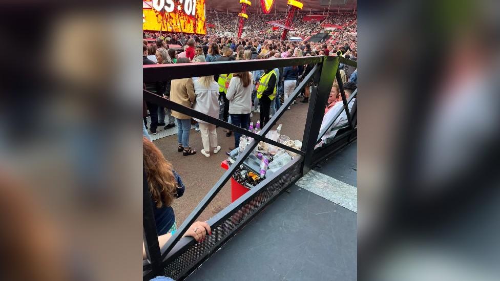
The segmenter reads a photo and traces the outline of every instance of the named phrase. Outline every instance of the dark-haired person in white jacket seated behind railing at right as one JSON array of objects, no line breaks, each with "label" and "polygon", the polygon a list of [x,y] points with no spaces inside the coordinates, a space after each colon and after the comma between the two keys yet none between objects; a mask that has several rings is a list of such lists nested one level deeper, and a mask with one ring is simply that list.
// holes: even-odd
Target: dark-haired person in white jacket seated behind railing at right
[{"label": "dark-haired person in white jacket seated behind railing at right", "polygon": [[[357,89],[356,85],[352,82],[347,82],[344,85],[344,92],[345,92],[345,97],[346,97],[346,102],[349,100],[350,95]],[[348,104],[347,107],[349,109],[349,112],[352,110],[352,106],[354,105],[356,99],[353,98]],[[340,112],[340,116],[334,121],[334,123],[328,127],[328,124],[332,121],[332,119]],[[323,132],[325,129],[327,129],[326,133],[321,137],[321,141],[323,143],[328,143],[329,140],[333,139],[335,135],[337,134],[339,126],[347,124],[347,114],[345,113],[344,109],[344,102],[342,101],[342,98],[340,101],[337,101],[334,106],[332,106],[328,112],[325,114],[323,117],[323,121],[321,122],[321,128],[320,132]],[[322,143],[320,143],[321,145]]]}]

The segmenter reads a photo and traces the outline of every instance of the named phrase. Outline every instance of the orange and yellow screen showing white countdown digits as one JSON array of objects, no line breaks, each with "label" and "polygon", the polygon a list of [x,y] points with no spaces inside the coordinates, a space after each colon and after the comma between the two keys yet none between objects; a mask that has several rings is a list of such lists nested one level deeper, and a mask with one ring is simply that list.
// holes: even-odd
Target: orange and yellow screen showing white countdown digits
[{"label": "orange and yellow screen showing white countdown digits", "polygon": [[142,29],[205,34],[205,0],[143,1]]}]

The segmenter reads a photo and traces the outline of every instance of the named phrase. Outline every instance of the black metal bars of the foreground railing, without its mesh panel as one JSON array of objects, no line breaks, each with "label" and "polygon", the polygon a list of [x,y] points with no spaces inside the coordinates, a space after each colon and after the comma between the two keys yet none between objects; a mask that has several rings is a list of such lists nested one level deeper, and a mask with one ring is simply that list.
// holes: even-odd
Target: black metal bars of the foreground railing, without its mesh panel
[{"label": "black metal bars of the foreground railing, without its mesh panel", "polygon": [[[151,65],[151,66],[143,66],[143,81],[144,82],[154,82],[154,81],[163,81],[168,79],[180,79],[180,78],[188,78],[188,77],[199,77],[206,75],[217,75],[217,74],[225,74],[225,73],[236,73],[243,71],[252,71],[252,70],[260,70],[260,69],[275,69],[279,67],[286,66],[297,66],[304,64],[316,64],[313,70],[303,79],[303,81],[298,85],[298,87],[294,90],[291,97],[286,100],[280,109],[276,112],[276,114],[269,120],[269,122],[262,128],[262,131],[259,134],[255,134],[253,132],[249,132],[246,129],[240,128],[233,124],[224,122],[222,120],[213,118],[211,116],[207,116],[205,114],[199,113],[189,107],[185,107],[178,103],[175,103],[171,100],[164,99],[154,93],[144,90],[143,98],[144,100],[155,103],[174,111],[189,115],[191,117],[216,124],[220,127],[231,129],[235,132],[241,133],[242,135],[252,137],[254,141],[249,144],[245,150],[238,155],[235,163],[231,165],[228,170],[222,175],[222,177],[217,181],[217,183],[212,187],[212,189],[206,194],[206,196],[201,200],[201,202],[196,206],[196,208],[191,212],[191,214],[186,218],[184,223],[178,228],[176,233],[171,237],[169,242],[162,247],[161,251],[158,245],[158,239],[156,236],[156,227],[154,225],[154,215],[152,204],[149,196],[149,188],[147,185],[147,181],[144,181],[144,245],[147,249],[148,259],[143,262],[143,279],[149,280],[150,278],[156,275],[162,275],[163,268],[169,263],[175,261],[182,253],[189,250],[194,246],[195,242],[192,237],[185,237],[180,240],[182,235],[188,230],[189,226],[191,226],[196,219],[199,217],[201,212],[206,208],[208,204],[215,198],[217,193],[222,189],[225,183],[232,177],[235,170],[239,165],[251,154],[252,150],[258,145],[260,141],[281,147],[283,149],[289,150],[290,152],[294,152],[299,156],[294,159],[294,161],[290,162],[288,165],[281,169],[281,173],[275,173],[273,176],[266,178],[256,187],[252,188],[249,192],[245,193],[237,201],[233,202],[231,205],[224,208],[221,212],[215,215],[214,218],[209,220],[209,224],[212,229],[220,226],[224,220],[230,218],[231,215],[235,214],[239,209],[242,208],[244,204],[250,202],[253,198],[255,198],[256,194],[266,188],[268,185],[272,185],[275,181],[280,179],[281,175],[284,175],[286,171],[293,165],[297,165],[301,163],[301,173],[298,173],[291,181],[287,183],[289,185],[295,183],[295,181],[302,175],[305,175],[311,167],[314,165],[317,160],[315,158],[315,145],[317,144],[317,138],[320,133],[321,121],[323,119],[323,113],[326,107],[326,102],[332,87],[332,83],[334,82],[334,78],[337,76],[337,80],[340,85],[340,92],[342,98],[344,100],[344,108],[346,110],[348,120],[349,120],[349,130],[347,133],[352,134],[356,131],[356,123],[353,123],[354,116],[351,116],[349,113],[347,104],[348,102],[345,100],[345,93],[342,87],[342,81],[340,79],[340,72],[338,70],[339,63],[342,62],[344,64],[348,64],[350,66],[356,67],[357,64],[354,61],[345,59],[343,57],[331,57],[331,56],[310,56],[310,57],[300,57],[300,58],[283,58],[283,59],[275,59],[275,60],[244,60],[244,61],[225,61],[225,62],[212,62],[212,63],[179,63],[179,64],[163,64],[163,65]],[[306,87],[306,84],[310,79],[313,79],[313,90],[310,95],[310,104],[309,111],[307,113],[307,120],[304,129],[304,137],[303,144],[301,150],[297,150],[288,146],[285,146],[276,141],[265,138],[265,135],[270,131],[273,125],[276,124],[278,119],[284,114],[286,108],[295,100],[295,98],[299,95],[299,93]],[[352,95],[351,99],[355,95]],[[320,112],[321,114],[318,114]],[[352,114],[355,114],[355,111],[352,111]],[[339,114],[340,115],[340,114]],[[337,116],[338,117],[338,116]],[[337,118],[336,117],[336,118]],[[334,119],[335,120],[335,119]],[[331,124],[330,124],[331,125]],[[324,132],[323,132],[324,134]],[[311,137],[312,136],[312,137]],[[320,136],[321,137],[321,136]],[[339,136],[342,137],[342,136]],[[334,139],[335,140],[335,139]],[[286,186],[286,187],[287,187]],[[281,188],[280,190],[284,190],[285,188]],[[278,192],[279,193],[279,192]],[[274,194],[272,198],[265,202],[268,204],[270,201],[274,200],[274,198],[278,194]],[[149,204],[146,202],[149,200]],[[263,205],[264,206],[264,205]],[[255,214],[260,210],[255,210],[252,215],[247,218],[247,221],[242,222],[238,227],[233,229],[230,233],[228,233],[223,239],[217,241],[213,245],[211,245],[211,252],[213,253],[214,249],[217,249],[225,241],[230,239],[235,232],[241,229]],[[158,255],[160,253],[160,256]],[[206,258],[210,256],[210,253],[206,253],[201,257],[198,257],[196,261],[190,266],[188,270],[184,270],[182,273],[177,272],[177,278],[183,278],[189,274],[197,264],[204,261]],[[172,276],[173,277],[173,276]]]}]

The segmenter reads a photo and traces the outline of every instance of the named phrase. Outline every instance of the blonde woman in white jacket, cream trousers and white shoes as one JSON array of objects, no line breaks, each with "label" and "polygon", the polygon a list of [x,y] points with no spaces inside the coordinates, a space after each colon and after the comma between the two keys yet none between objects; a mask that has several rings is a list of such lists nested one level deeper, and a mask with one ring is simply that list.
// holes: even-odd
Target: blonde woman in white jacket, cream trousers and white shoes
[{"label": "blonde woman in white jacket, cream trousers and white shoes", "polygon": [[[196,102],[194,110],[219,118],[219,85],[214,80],[214,76],[203,76],[193,79]],[[203,120],[193,118],[200,125],[201,141],[203,149],[201,154],[210,157],[210,149],[213,148],[214,153],[218,153],[220,146],[217,145],[217,131],[214,124],[207,123]]]}]

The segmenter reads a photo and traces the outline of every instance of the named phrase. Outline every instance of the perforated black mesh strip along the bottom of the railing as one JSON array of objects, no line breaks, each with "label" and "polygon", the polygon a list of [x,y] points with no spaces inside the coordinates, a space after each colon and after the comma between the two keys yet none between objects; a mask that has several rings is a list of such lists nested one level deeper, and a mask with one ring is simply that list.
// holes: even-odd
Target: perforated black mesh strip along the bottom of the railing
[{"label": "perforated black mesh strip along the bottom of the railing", "polygon": [[224,239],[227,234],[233,232],[241,223],[245,222],[254,211],[259,210],[267,201],[301,177],[301,162],[298,161],[294,166],[284,171],[273,184],[263,187],[254,199],[239,206],[231,217],[227,218],[215,229],[212,229],[212,234],[206,236],[203,242],[196,243],[177,257],[176,260],[168,264],[164,268],[165,276],[177,279],[184,271],[194,266],[194,263],[199,258],[211,253],[215,244]]}]

